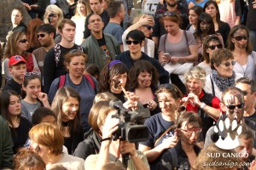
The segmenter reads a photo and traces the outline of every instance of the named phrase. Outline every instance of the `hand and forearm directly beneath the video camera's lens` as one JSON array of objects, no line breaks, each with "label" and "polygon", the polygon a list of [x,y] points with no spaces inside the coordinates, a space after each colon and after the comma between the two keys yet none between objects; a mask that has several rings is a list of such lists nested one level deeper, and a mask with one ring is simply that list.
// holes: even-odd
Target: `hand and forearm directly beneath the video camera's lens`
[{"label": "hand and forearm directly beneath the video camera's lens", "polygon": [[148,169],[147,165],[143,162],[142,158],[137,155],[134,143],[129,143],[124,140],[120,142],[120,152],[122,155],[129,154],[131,161],[133,161],[136,170]]}]

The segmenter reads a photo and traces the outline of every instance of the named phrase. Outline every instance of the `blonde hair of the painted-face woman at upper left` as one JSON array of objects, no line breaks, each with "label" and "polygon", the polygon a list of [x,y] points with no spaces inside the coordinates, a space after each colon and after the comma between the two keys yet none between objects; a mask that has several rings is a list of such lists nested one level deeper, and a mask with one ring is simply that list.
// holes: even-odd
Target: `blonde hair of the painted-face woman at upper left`
[{"label": "blonde hair of the painted-face woman at upper left", "polygon": [[47,6],[47,8],[45,9],[45,13],[44,13],[44,24],[49,24],[49,20],[48,20],[49,14],[57,14],[59,16],[57,25],[55,26],[55,28],[58,28],[58,26],[61,23],[61,20],[64,19],[63,12],[62,12],[61,8],[59,8],[58,6],[53,5],[53,4]]}]

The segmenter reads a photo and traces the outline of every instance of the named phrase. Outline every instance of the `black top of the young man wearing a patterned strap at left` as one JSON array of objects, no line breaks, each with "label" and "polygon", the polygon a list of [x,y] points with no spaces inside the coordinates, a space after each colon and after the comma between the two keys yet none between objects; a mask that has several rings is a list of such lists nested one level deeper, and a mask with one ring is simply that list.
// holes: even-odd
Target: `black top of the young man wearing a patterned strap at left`
[{"label": "black top of the young man wearing a patterned strap at left", "polygon": [[73,48],[64,48],[60,45],[61,56],[56,67],[55,48],[51,48],[44,58],[44,92],[48,94],[51,82],[61,75],[66,75],[67,71],[64,66],[64,56],[72,49],[78,49],[78,45],[74,44]]}]

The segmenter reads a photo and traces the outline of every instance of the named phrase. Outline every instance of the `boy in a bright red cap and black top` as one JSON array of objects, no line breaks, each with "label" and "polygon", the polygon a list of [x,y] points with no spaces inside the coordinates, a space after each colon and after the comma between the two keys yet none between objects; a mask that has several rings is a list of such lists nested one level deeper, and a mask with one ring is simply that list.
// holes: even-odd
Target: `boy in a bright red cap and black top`
[{"label": "boy in a bright red cap and black top", "polygon": [[26,60],[20,55],[12,56],[9,59],[9,73],[13,76],[4,86],[5,90],[14,90],[21,96],[22,82],[26,74]]}]

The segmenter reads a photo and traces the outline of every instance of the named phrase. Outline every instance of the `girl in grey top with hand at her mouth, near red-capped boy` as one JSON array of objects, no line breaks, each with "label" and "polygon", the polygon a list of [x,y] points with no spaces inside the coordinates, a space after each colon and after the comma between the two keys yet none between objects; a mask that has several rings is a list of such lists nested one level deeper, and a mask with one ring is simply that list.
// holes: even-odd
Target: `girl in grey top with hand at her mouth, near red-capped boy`
[{"label": "girl in grey top with hand at her mouth, near red-capped boy", "polygon": [[23,90],[26,92],[26,98],[21,100],[22,116],[25,116],[30,122],[32,122],[32,114],[39,107],[48,107],[47,94],[41,92],[41,79],[32,72],[26,73],[23,82]]}]

